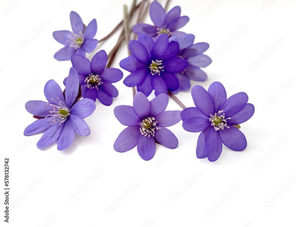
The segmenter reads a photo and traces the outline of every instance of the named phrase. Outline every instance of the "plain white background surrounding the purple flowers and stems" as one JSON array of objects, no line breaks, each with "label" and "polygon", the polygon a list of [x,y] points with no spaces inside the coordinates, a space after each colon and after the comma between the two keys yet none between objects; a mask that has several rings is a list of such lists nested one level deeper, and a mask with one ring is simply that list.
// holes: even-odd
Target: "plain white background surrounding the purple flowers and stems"
[{"label": "plain white background surrounding the purple flowers and stems", "polygon": [[[85,119],[90,136],[77,136],[73,146],[64,152],[57,151],[56,144],[37,149],[41,134],[23,136],[25,127],[34,120],[26,112],[25,103],[45,100],[43,89],[49,79],[63,89],[62,81],[71,67],[70,61],[54,60],[54,53],[62,45],[54,40],[52,32],[71,30],[69,13],[73,10],[85,24],[97,19],[96,38],[100,39],[122,19],[123,5],[130,8],[131,1],[115,4],[113,0],[1,0],[1,226],[49,226],[52,217],[52,227],[295,225],[296,3],[265,2],[170,2],[169,9],[180,5],[181,15],[190,17],[181,30],[193,33],[195,42],[210,44],[205,52],[213,59],[205,68],[208,79],[192,85],[207,89],[212,82],[220,81],[228,96],[244,91],[255,105],[254,116],[241,124],[247,149],[234,152],[223,145],[220,158],[209,162],[207,158],[196,158],[199,133],[184,131],[181,122],[169,128],[179,139],[175,150],[157,144],[155,157],[150,161],[142,160],[136,148],[126,153],[115,152],[113,143],[125,126],[115,118],[113,109],[119,104],[132,105],[131,88],[125,87],[122,80],[115,84],[119,96],[112,106],[96,101],[95,112]],[[160,3],[165,4],[163,0]],[[109,13],[108,7],[112,9]],[[149,17],[146,22],[151,23]],[[36,30],[39,26],[40,31]],[[239,31],[241,26],[245,29]],[[236,38],[233,33],[237,33]],[[105,49],[108,53],[118,35],[96,51]],[[30,36],[33,39],[17,51]],[[278,39],[282,40],[280,45],[276,44]],[[225,44],[227,48],[223,48]],[[264,54],[268,57],[251,70]],[[87,57],[91,59],[93,55]],[[125,46],[113,67],[119,67],[120,59],[127,56]],[[129,74],[123,72],[124,77]],[[153,97],[152,94],[149,99]],[[177,97],[187,107],[194,105],[190,91]],[[170,100],[167,110],[181,109]],[[9,212],[9,224],[4,223],[2,192],[6,157],[10,166],[10,206],[15,207]],[[103,173],[99,174],[97,169]],[[79,196],[70,200],[74,194]],[[123,201],[116,202],[121,197]],[[169,202],[171,199],[173,202]],[[108,214],[108,209],[113,211]]]}]

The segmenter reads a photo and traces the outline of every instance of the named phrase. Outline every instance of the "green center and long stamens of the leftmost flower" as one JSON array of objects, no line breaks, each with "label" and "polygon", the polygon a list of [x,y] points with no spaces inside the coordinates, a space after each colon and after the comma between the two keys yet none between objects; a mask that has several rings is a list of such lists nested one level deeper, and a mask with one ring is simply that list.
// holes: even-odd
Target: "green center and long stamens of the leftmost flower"
[{"label": "green center and long stamens of the leftmost flower", "polygon": [[57,101],[59,102],[55,101],[54,99],[52,99],[52,101],[56,102],[57,105],[46,103],[46,105],[52,106],[54,110],[50,110],[49,112],[51,113],[51,115],[48,115],[45,118],[52,117],[49,119],[49,121],[52,121],[51,125],[57,122],[59,122],[59,125],[61,125],[67,120],[67,117],[70,115],[69,109],[66,107],[64,102],[59,100],[59,98],[57,98]]}]

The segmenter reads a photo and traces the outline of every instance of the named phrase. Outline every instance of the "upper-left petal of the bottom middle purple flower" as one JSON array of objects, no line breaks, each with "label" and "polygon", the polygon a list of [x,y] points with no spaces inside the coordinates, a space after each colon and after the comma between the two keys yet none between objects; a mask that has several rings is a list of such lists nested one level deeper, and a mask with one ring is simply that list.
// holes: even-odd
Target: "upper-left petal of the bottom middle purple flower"
[{"label": "upper-left petal of the bottom middle purple flower", "polygon": [[[126,126],[138,125],[141,122],[133,107],[120,105],[114,108],[114,115],[117,120]],[[140,128],[140,127],[139,127]]]}]

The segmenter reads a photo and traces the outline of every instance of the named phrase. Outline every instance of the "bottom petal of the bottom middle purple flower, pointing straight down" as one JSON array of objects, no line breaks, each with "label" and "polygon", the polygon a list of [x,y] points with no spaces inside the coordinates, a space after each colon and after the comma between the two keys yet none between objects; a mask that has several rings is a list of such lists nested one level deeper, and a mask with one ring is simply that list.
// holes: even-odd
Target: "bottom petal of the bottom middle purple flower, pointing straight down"
[{"label": "bottom petal of the bottom middle purple flower, pointing straight down", "polygon": [[155,140],[153,136],[140,136],[137,150],[143,160],[152,159],[155,154]]}]

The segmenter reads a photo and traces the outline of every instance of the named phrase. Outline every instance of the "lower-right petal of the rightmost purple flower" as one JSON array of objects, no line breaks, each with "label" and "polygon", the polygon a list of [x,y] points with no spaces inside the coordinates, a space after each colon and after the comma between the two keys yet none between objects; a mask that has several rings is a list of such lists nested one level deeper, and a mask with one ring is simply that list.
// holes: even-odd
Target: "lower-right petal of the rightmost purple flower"
[{"label": "lower-right petal of the rightmost purple flower", "polygon": [[219,130],[222,143],[234,151],[242,151],[247,147],[247,139],[244,134],[232,125],[229,128]]}]

